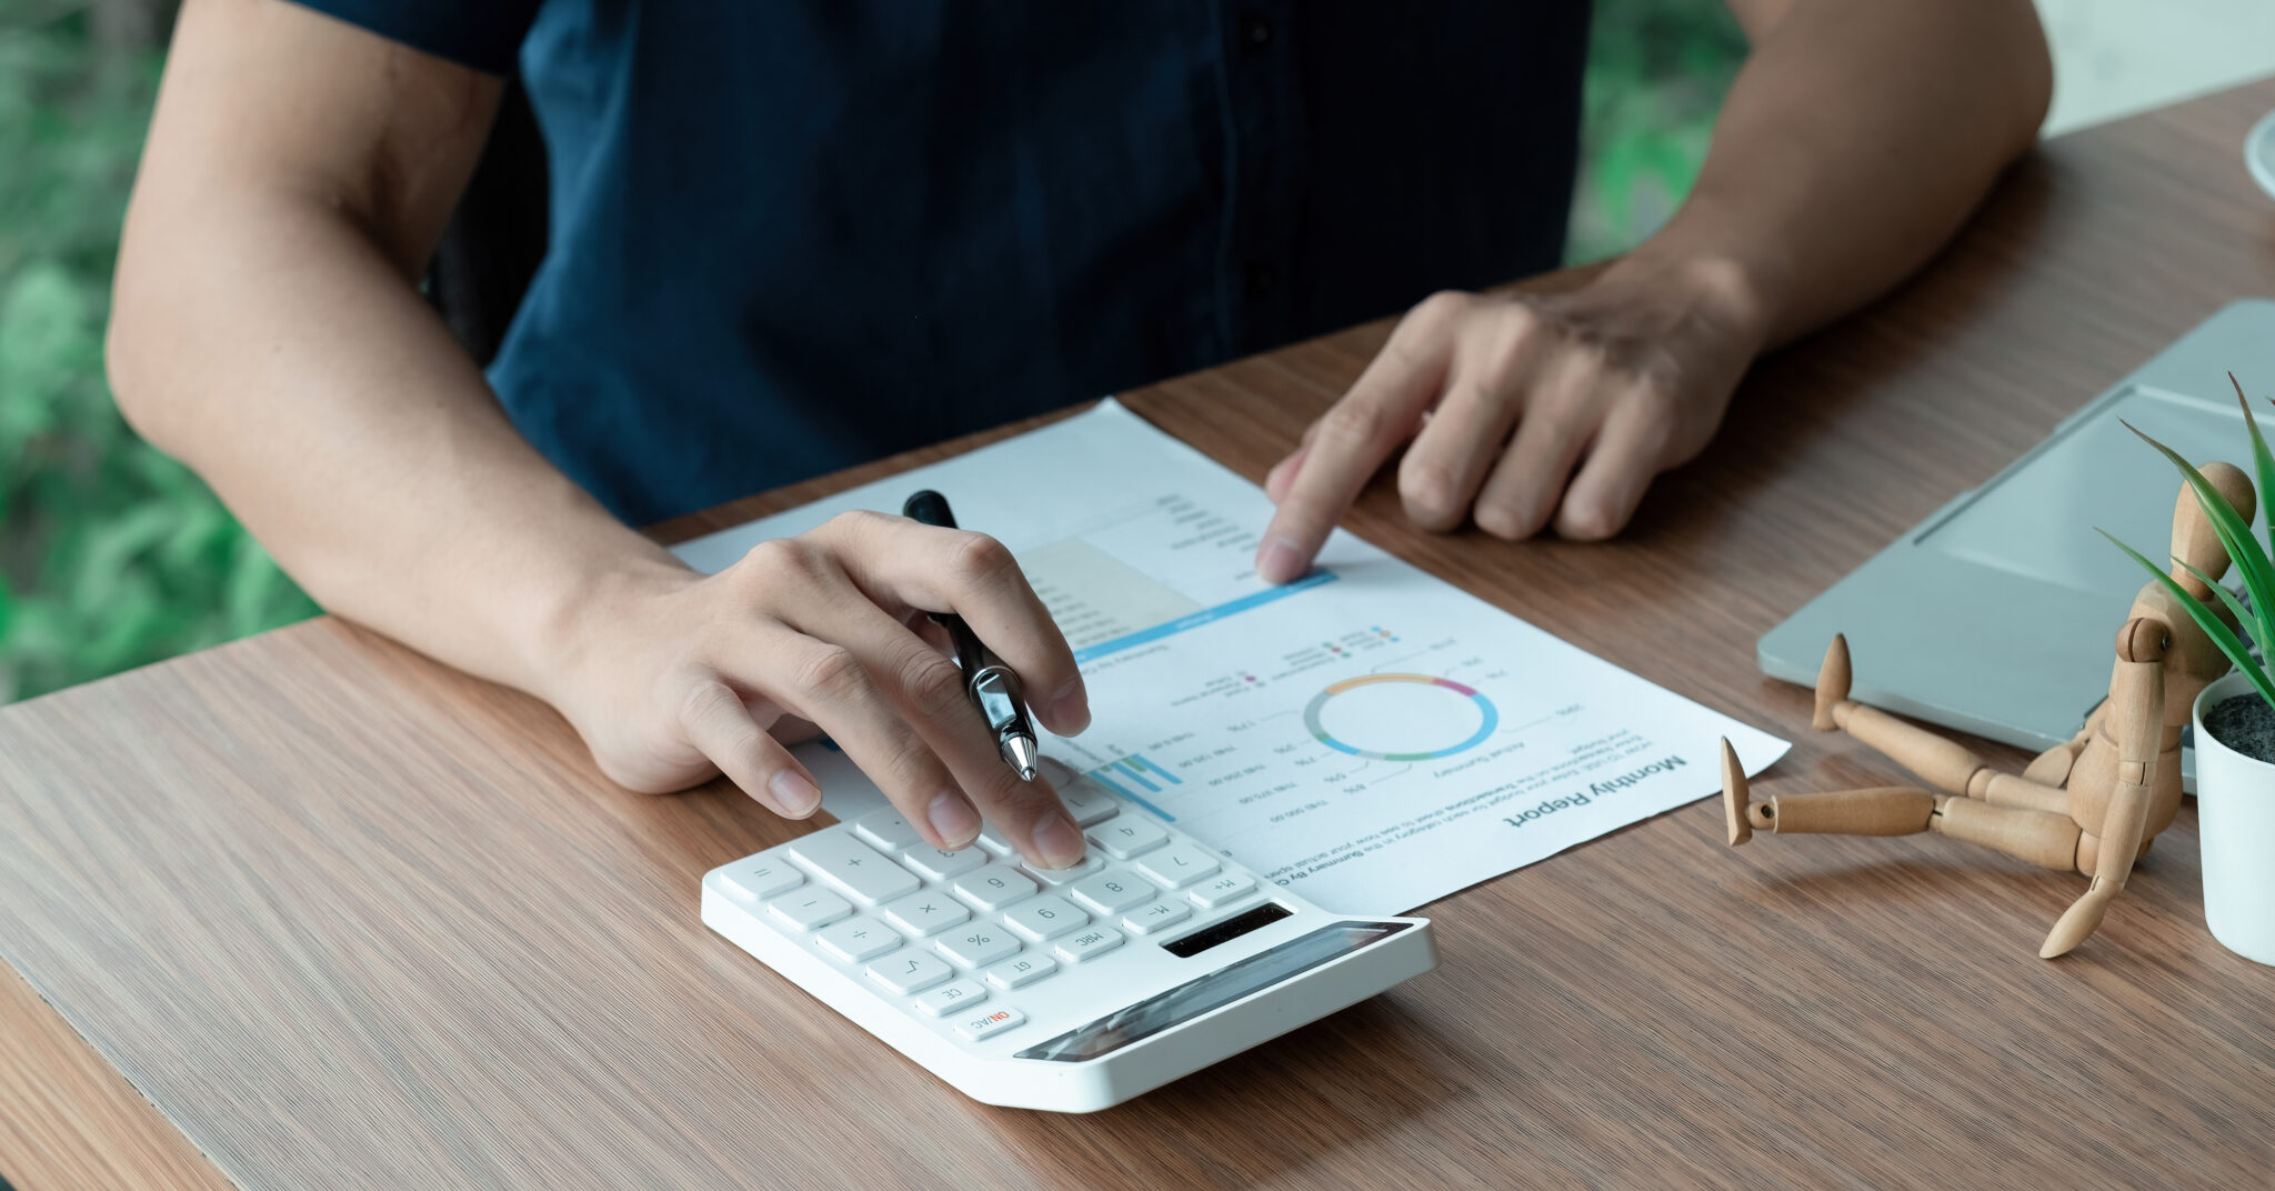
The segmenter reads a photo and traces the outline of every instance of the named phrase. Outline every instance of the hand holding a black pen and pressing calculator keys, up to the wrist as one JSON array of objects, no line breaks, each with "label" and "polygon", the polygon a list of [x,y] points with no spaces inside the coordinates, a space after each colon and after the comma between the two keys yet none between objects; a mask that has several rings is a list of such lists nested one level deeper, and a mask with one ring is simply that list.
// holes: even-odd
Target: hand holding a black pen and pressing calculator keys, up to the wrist
[{"label": "hand holding a black pen and pressing calculator keys, up to the wrist", "polygon": [[1074,651],[1010,551],[878,512],[760,542],[714,576],[642,560],[576,613],[546,695],[632,790],[723,772],[778,815],[812,815],[821,790],[776,738],[805,720],[933,847],[971,845],[985,818],[1031,863],[1078,863],[1081,829],[1044,779],[996,756],[962,670],[919,633],[926,613],[965,617],[1044,726],[1090,724]]}]

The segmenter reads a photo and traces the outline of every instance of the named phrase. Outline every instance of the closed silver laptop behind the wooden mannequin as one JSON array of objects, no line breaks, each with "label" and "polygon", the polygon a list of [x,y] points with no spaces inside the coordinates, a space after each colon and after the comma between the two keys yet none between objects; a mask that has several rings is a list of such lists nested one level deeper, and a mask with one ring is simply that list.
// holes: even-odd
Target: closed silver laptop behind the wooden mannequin
[{"label": "closed silver laptop behind the wooden mannequin", "polygon": [[2027,749],[2068,740],[2109,690],[2118,624],[2148,578],[2093,528],[2164,558],[2179,494],[2179,471],[2118,419],[2252,474],[2230,371],[2275,435],[2259,403],[2275,394],[2275,301],[2220,310],[1793,613],[1761,638],[1763,674],[1815,685],[1825,644],[1847,633],[1866,704]]}]

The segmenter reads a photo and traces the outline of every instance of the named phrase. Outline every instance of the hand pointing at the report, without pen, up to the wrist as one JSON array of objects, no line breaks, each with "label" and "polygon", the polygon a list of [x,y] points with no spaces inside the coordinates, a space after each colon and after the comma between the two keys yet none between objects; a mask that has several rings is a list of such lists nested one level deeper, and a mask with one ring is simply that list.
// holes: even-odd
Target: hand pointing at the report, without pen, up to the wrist
[{"label": "hand pointing at the report, without pen, up to the wrist", "polygon": [[1433,531],[1611,537],[1652,478],[1713,437],[1768,332],[1729,262],[1638,257],[1570,294],[1433,294],[1281,460],[1256,569],[1288,583],[1397,451]]}]

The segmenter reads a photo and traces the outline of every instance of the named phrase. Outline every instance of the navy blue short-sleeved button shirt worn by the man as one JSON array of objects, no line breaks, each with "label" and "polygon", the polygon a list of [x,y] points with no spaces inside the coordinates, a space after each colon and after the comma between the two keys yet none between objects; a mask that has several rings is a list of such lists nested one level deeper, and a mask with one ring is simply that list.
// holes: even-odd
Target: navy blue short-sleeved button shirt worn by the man
[{"label": "navy blue short-sleeved button shirt worn by the man", "polygon": [[1588,5],[305,0],[551,155],[489,380],[644,524],[1554,266]]}]

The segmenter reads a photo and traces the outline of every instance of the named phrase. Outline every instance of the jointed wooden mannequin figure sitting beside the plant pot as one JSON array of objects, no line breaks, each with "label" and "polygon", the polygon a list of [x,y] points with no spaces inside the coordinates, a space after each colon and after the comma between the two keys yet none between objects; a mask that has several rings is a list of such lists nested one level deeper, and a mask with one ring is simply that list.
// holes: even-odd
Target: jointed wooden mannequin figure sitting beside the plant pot
[{"label": "jointed wooden mannequin figure sitting beside the plant pot", "polygon": [[[2257,512],[2243,471],[2204,465],[2204,478],[2250,521]],[[2211,521],[2182,485],[2173,508],[2173,558],[2218,578],[2227,551]],[[2211,603],[2211,592],[2179,562],[2173,581]],[[2211,603],[2220,617],[2227,610]],[[2054,922],[2038,956],[2054,959],[2093,934],[2109,902],[2125,888],[2134,861],[2148,852],[2179,811],[2179,731],[2195,695],[2227,674],[2227,656],[2198,629],[2161,583],[2134,597],[2118,629],[2109,699],[2075,738],[2057,745],[2011,777],[1993,770],[1954,740],[1945,740],[1850,692],[1847,640],[1836,635],[1818,672],[1818,731],[1845,729],[1891,761],[1943,790],[1879,786],[1825,795],[1781,795],[1752,802],[1745,767],[1722,740],[1722,804],[1731,847],[1772,833],[1911,836],[1941,831],[2009,856],[2082,872],[2086,893]]]}]

